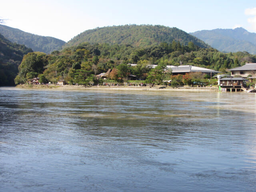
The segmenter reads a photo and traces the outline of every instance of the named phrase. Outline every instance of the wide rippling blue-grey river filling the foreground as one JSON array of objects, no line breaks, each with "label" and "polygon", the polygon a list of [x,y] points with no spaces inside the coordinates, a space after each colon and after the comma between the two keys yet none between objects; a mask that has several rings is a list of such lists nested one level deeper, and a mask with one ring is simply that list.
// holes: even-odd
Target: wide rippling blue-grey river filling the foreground
[{"label": "wide rippling blue-grey river filling the foreground", "polygon": [[0,191],[256,191],[256,94],[0,88]]}]

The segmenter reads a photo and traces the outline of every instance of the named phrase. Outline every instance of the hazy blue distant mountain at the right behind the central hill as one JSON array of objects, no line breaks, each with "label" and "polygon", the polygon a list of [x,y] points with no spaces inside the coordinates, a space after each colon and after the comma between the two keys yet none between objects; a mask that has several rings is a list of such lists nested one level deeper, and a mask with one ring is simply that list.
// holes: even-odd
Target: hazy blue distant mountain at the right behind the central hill
[{"label": "hazy blue distant mountain at the right behind the central hill", "polygon": [[246,51],[256,54],[256,33],[244,28],[202,30],[190,34],[223,52]]}]

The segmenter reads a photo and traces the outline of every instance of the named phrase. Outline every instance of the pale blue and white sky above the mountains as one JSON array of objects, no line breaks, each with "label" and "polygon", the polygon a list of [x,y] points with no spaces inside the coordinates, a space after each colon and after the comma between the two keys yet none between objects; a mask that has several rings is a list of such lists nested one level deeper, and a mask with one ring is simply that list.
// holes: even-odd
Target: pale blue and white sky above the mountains
[{"label": "pale blue and white sky above the mountains", "polygon": [[3,0],[5,25],[68,41],[96,27],[160,24],[186,32],[235,28],[256,32],[255,0]]}]

